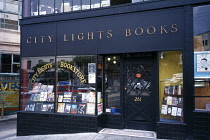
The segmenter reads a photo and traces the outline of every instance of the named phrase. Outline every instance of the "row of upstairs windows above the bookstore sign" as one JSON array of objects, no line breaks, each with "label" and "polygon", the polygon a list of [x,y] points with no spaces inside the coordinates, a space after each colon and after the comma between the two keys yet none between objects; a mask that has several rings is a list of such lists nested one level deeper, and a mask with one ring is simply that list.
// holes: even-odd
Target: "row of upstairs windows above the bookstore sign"
[{"label": "row of upstairs windows above the bookstore sign", "polygon": [[25,0],[23,16],[40,16],[64,12],[81,11],[137,2],[153,2],[161,0]]}]

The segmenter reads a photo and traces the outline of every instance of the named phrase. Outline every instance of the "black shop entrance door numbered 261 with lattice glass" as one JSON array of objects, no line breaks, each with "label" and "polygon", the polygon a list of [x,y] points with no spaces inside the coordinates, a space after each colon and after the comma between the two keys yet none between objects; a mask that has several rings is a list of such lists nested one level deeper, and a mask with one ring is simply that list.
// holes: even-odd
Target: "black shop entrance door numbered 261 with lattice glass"
[{"label": "black shop entrance door numbered 261 with lattice glass", "polygon": [[124,70],[125,128],[153,131],[158,108],[152,61],[126,61]]}]

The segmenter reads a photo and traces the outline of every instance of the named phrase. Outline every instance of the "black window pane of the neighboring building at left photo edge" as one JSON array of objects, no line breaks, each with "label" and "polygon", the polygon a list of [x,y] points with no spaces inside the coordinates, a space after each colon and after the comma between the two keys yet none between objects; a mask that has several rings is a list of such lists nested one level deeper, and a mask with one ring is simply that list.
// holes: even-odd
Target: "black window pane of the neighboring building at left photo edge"
[{"label": "black window pane of the neighboring building at left photo edge", "polygon": [[1,72],[11,73],[11,65],[12,65],[12,55],[2,54],[1,55]]}]

